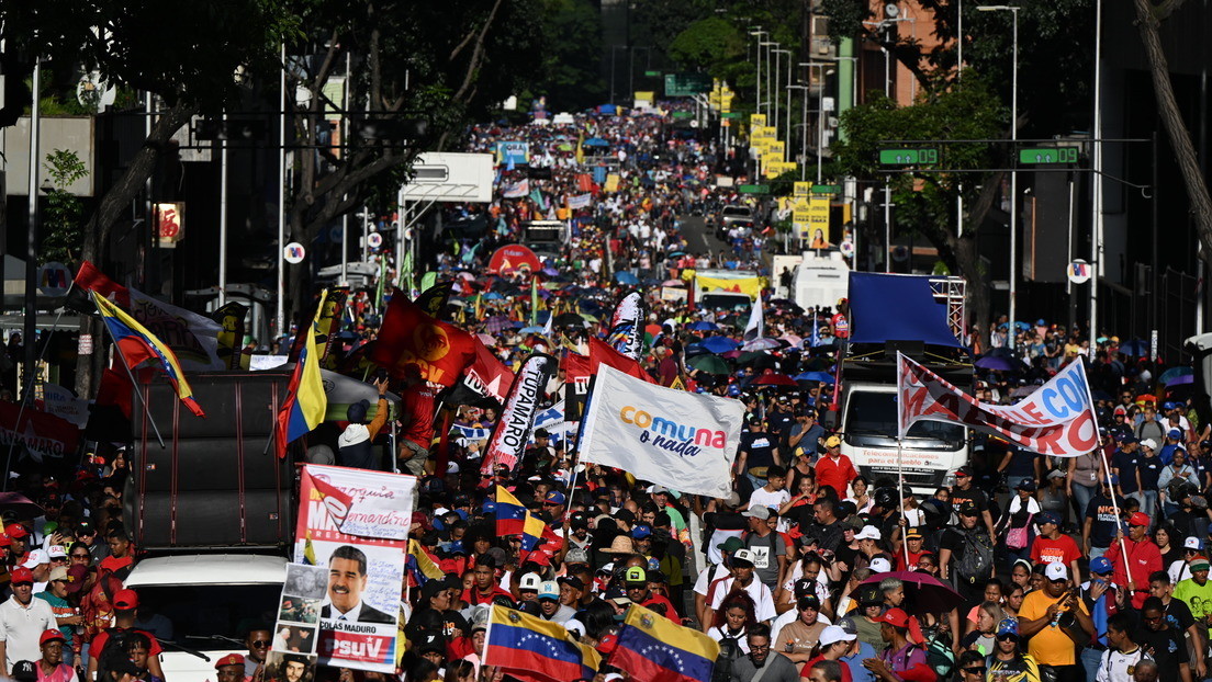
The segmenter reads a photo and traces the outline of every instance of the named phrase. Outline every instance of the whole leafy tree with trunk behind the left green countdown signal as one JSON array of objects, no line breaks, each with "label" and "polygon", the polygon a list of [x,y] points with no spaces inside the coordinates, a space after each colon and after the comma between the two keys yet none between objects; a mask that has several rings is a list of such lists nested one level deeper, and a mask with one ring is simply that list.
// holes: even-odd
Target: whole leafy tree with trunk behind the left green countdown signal
[{"label": "whole leafy tree with trunk behind the left green countdown signal", "polygon": [[[968,219],[956,234],[954,206],[964,174],[885,176],[879,173],[876,159],[884,139],[989,139],[1001,133],[1001,121],[1002,109],[996,97],[984,80],[968,73],[962,84],[924,93],[911,107],[898,108],[896,102],[881,94],[874,102],[850,109],[841,119],[846,141],[834,144],[834,161],[845,174],[892,184],[896,228],[916,230],[925,236],[938,250],[947,268],[968,282],[973,321],[982,333],[988,333],[991,314],[976,235],[993,206],[1001,173],[982,177],[981,190],[973,189],[973,182],[964,183]],[[993,167],[999,153],[987,144],[953,143],[943,147],[942,155],[947,167],[966,170]],[[971,174],[968,178],[976,179]]]}]

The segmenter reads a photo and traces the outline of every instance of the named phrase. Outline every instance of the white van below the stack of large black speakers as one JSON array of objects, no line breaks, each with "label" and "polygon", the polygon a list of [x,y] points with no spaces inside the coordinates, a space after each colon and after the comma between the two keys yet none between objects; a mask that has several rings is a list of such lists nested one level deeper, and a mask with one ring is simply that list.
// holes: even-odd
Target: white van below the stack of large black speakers
[{"label": "white van below the stack of large black speakers", "polygon": [[215,661],[247,654],[241,629],[273,626],[286,580],[286,557],[187,554],[139,561],[126,586],[172,623],[160,665],[171,682],[215,680]]}]

